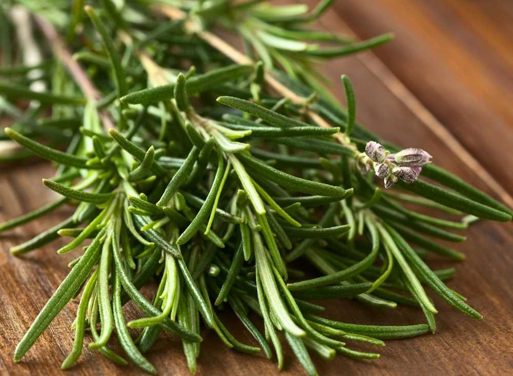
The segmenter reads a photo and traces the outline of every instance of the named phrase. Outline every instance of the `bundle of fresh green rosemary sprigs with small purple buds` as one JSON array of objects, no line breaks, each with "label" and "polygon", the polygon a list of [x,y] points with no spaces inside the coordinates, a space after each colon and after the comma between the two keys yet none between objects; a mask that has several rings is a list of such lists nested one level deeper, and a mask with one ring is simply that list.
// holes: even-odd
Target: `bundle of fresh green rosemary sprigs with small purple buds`
[{"label": "bundle of fresh green rosemary sprigs with small purple buds", "polygon": [[[56,173],[43,184],[62,198],[0,231],[71,205],[68,219],[11,252],[63,236],[72,240],[57,252],[77,255],[16,347],[16,361],[81,292],[63,369],[78,360],[89,330],[89,348],[156,373],[143,354],[168,331],[181,338],[194,372],[204,327],[234,350],[263,351],[279,369],[288,344],[313,375],[311,352],[374,359],[379,354],[345,342],[380,346],[434,333],[437,309],[426,288],[481,319],[445,285],[455,269],[432,270],[424,260],[429,253],[463,260],[437,240],[462,242],[451,230],[479,218],[510,221],[511,210],[436,167],[426,151],[381,142],[356,122],[349,79],[342,76],[341,106],[314,70],[319,59],[391,35],[358,42],[308,29],[329,0],[311,11],[259,0],[14,3],[0,8],[0,110],[13,119],[0,135],[8,146],[1,158],[52,161]],[[245,52],[215,28],[242,38]],[[150,301],[140,289],[155,282]],[[311,303],[341,298],[369,309],[418,307],[427,324],[342,323]],[[126,322],[130,301],[143,317]],[[221,308],[259,347],[227,330]],[[253,323],[259,316],[264,333]],[[129,328],[140,329],[137,339]],[[108,347],[114,332],[124,354]]]}]

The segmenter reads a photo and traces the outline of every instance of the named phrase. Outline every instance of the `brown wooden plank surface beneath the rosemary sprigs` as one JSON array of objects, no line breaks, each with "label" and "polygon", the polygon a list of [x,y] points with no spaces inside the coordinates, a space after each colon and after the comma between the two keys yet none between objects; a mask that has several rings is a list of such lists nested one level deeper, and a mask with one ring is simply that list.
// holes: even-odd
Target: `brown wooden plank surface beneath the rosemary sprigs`
[{"label": "brown wooden plank surface beneath the rosemary sprigs", "polygon": [[[460,159],[426,126],[425,114],[419,107],[409,105],[398,95],[397,85],[403,85],[511,194],[513,175],[508,166],[513,162],[510,151],[513,112],[508,106],[513,95],[513,85],[510,85],[513,74],[511,3],[501,0],[344,0],[336,3],[337,12],[330,12],[324,18],[324,25],[331,29],[348,30],[348,24],[362,37],[383,31],[397,33],[396,40],[389,46],[375,51],[379,60],[372,54],[364,58],[349,57],[328,64],[324,70],[336,83],[342,73],[351,77],[358,99],[358,120],[392,142],[428,150],[435,156],[436,163],[495,195],[489,184],[472,171],[468,161]],[[377,67],[388,68],[392,76],[376,74]],[[333,91],[343,98],[338,85]],[[0,221],[50,201],[53,194],[44,188],[41,178],[51,176],[52,172],[45,163],[2,166]],[[22,362],[14,364],[12,353],[68,272],[66,264],[76,255],[55,254],[59,246],[55,243],[22,258],[11,256],[8,249],[64,219],[67,214],[69,212],[63,208],[41,221],[0,234],[2,374],[64,374],[59,367],[72,345],[73,332],[69,327],[76,312],[76,301],[57,316]],[[326,362],[314,358],[319,373],[511,374],[512,229],[511,224],[481,222],[467,231],[465,243],[455,247],[466,253],[467,260],[456,265],[456,278],[449,286],[468,298],[484,315],[482,321],[469,319],[435,298],[440,311],[436,334],[388,341],[386,347],[375,349],[382,354],[377,361],[354,361],[338,356]],[[452,264],[433,259],[431,265]],[[139,314],[133,307],[125,312],[129,317]],[[415,324],[424,320],[422,313],[414,309],[372,310],[348,300],[330,303],[327,316],[369,324]],[[227,314],[222,319],[241,341],[253,343],[234,316]],[[277,373],[275,364],[262,355],[252,357],[236,353],[225,348],[215,334],[203,331],[202,335],[204,343],[197,374]],[[148,358],[160,374],[188,374],[180,341],[164,339]],[[281,374],[303,374],[290,352],[286,359]],[[113,366],[88,349],[84,349],[72,372],[87,375],[141,373],[133,366]]]}]

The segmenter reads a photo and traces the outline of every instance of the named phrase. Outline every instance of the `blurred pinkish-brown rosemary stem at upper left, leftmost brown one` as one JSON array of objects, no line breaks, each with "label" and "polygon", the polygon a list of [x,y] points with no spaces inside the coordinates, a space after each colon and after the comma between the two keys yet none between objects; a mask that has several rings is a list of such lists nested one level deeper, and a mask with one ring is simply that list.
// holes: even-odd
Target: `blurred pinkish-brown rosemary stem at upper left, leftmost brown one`
[{"label": "blurred pinkish-brown rosemary stem at upper left, leftmost brown one", "polygon": [[[53,52],[59,60],[64,63],[69,73],[73,76],[76,84],[84,93],[84,96],[88,100],[98,101],[100,99],[100,92],[94,87],[94,84],[89,80],[89,77],[87,77],[86,72],[84,72],[84,69],[80,64],[78,64],[78,62],[71,56],[71,53],[67,50],[64,42],[57,34],[53,25],[43,17],[37,15],[35,16],[35,20],[48,40]],[[115,128],[114,123],[112,123],[112,120],[106,110],[100,111],[99,115],[107,131],[111,128]]]}]

